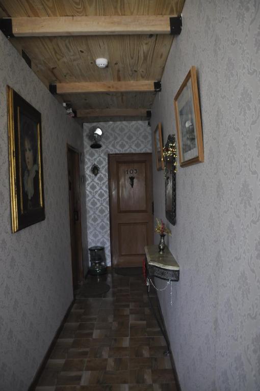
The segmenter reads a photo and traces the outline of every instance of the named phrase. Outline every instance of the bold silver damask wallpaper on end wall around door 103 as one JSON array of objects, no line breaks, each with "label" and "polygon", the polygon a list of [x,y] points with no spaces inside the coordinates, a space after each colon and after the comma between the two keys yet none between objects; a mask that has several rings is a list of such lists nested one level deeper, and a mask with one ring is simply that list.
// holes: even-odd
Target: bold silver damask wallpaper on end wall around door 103
[{"label": "bold silver damask wallpaper on end wall around door 103", "polygon": [[[103,130],[100,149],[90,148],[87,135],[93,125]],[[104,246],[107,265],[111,265],[108,154],[151,152],[151,128],[147,126],[147,121],[85,123],[84,151],[88,243],[89,247]],[[96,177],[91,173],[94,163],[100,168]]]}]

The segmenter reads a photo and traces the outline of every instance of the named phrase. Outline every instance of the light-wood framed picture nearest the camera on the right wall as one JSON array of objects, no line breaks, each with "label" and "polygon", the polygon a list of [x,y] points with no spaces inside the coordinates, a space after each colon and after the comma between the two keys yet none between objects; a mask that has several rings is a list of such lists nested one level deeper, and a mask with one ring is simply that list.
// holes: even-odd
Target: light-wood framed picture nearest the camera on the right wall
[{"label": "light-wood framed picture nearest the camera on the right wall", "polygon": [[196,68],[191,67],[174,98],[179,163],[184,167],[204,161]]}]

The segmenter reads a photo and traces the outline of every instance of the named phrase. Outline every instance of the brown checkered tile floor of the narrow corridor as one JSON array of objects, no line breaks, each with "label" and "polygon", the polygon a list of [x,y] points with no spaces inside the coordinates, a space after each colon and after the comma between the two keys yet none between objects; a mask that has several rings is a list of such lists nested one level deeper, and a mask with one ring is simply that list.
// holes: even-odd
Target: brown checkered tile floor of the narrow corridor
[{"label": "brown checkered tile floor of the narrow corridor", "polygon": [[176,391],[143,277],[99,278],[110,291],[75,301],[36,391]]}]

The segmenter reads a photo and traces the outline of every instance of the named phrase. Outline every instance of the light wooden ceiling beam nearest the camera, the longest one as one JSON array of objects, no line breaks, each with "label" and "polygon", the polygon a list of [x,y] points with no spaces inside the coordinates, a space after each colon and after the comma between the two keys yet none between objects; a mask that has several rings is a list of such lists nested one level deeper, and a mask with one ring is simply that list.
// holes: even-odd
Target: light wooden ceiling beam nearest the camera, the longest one
[{"label": "light wooden ceiling beam nearest the camera, the longest one", "polygon": [[14,37],[170,34],[176,15],[11,18]]}]

